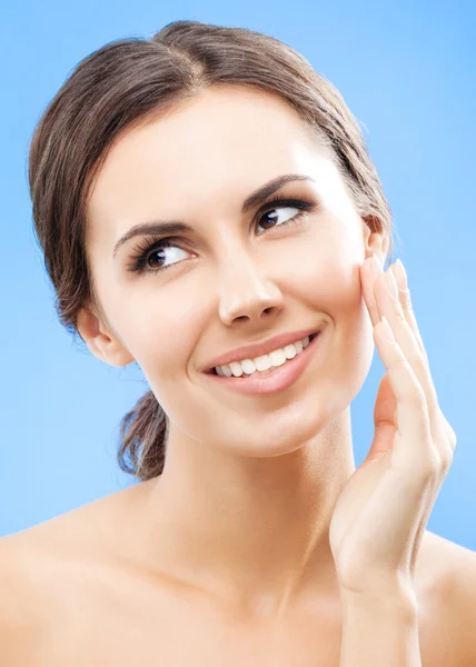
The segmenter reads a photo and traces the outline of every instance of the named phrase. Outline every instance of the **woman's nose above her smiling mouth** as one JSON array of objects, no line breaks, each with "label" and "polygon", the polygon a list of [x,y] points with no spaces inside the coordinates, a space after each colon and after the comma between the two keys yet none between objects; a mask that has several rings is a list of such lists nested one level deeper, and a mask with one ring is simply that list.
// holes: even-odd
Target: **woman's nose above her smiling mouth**
[{"label": "woman's nose above her smiling mouth", "polygon": [[240,253],[239,259],[227,258],[219,280],[219,317],[227,326],[246,319],[258,322],[282,309],[282,292],[278,286],[245,253]]}]

